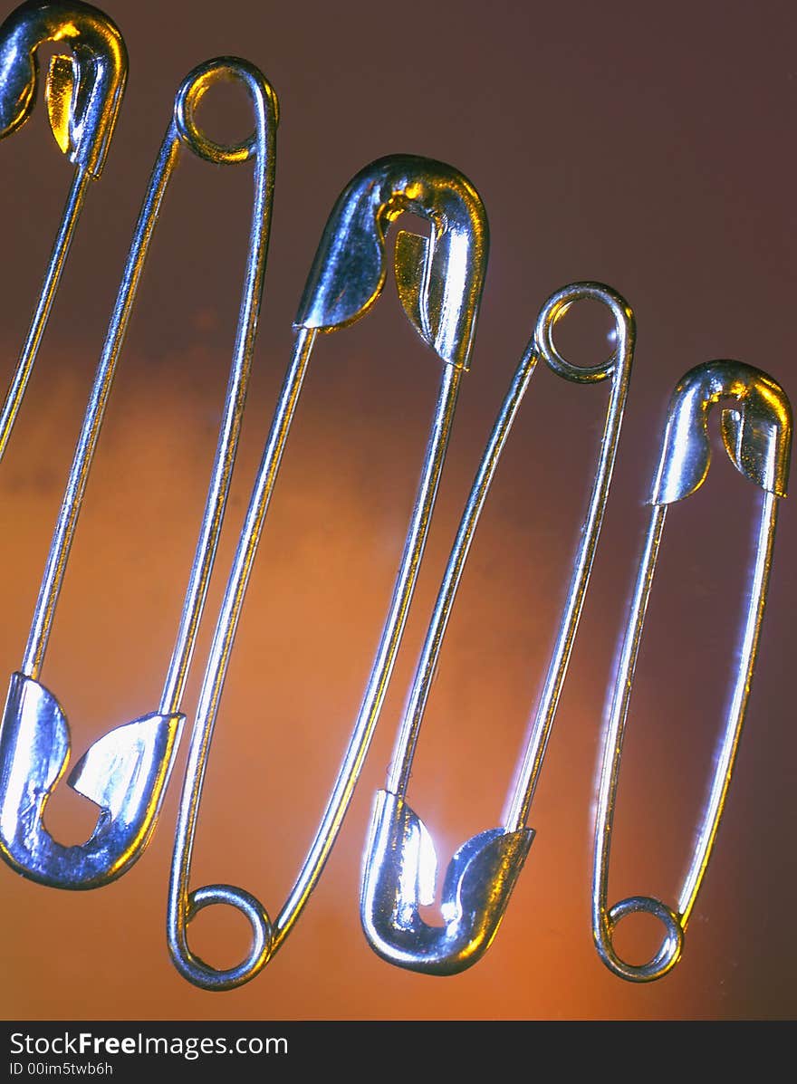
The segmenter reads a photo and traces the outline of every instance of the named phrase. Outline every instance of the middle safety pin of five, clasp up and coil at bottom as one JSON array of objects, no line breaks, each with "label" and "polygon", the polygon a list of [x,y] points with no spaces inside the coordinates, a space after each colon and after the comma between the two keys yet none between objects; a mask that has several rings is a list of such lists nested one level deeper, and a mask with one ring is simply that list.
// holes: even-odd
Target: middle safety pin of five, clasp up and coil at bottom
[{"label": "middle safety pin of five, clasp up and coil at bottom", "polygon": [[[406,231],[397,235],[395,271],[404,312],[445,363],[442,378],[403,554],[362,705],[316,838],[272,924],[262,904],[244,889],[209,885],[189,891],[207,754],[249,572],[316,336],[352,323],[375,302],[386,280],[385,233],[402,211],[423,217],[432,225],[428,238]],[[471,356],[487,245],[487,218],[470,182],[450,166],[410,155],[367,166],[343,191],[327,220],[294,322],[293,358],[219,611],[180,799],[167,939],[177,969],[197,986],[231,990],[263,968],[307,903],[346,815],[382,709],[423,556],[460,380]],[[215,903],[236,907],[253,931],[246,959],[224,970],[205,963],[188,943],[189,922]]]}]

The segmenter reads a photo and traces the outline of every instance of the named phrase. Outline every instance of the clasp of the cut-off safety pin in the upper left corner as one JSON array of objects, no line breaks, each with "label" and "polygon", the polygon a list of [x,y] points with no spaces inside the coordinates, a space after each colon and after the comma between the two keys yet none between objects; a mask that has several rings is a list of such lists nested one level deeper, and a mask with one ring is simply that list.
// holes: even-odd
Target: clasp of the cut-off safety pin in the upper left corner
[{"label": "clasp of the cut-off safety pin in the upper left corner", "polygon": [[34,0],[0,26],[0,138],[33,112],[37,50],[48,41],[70,47],[51,59],[47,77],[53,136],[70,162],[99,177],[125,91],[127,51],[114,23],[91,4]]}]

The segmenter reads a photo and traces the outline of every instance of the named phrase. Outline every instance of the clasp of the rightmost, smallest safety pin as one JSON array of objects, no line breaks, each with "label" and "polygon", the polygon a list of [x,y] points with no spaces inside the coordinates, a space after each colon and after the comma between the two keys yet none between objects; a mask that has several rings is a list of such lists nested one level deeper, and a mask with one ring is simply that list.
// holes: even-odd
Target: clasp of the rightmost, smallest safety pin
[{"label": "clasp of the rightmost, smallest safety pin", "polygon": [[711,460],[708,416],[716,404],[736,469],[761,489],[786,495],[792,449],[786,393],[753,365],[710,361],[690,370],[672,393],[651,504],[671,504],[703,485]]}]

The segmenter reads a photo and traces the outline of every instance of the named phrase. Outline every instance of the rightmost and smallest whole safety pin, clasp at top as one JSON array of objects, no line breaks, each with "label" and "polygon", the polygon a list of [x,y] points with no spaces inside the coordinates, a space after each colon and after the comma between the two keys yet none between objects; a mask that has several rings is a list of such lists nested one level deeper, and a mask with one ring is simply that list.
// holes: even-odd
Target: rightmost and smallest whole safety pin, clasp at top
[{"label": "rightmost and smallest whole safety pin, clasp at top", "polygon": [[[614,907],[606,904],[617,783],[634,669],[647,601],[668,505],[703,485],[710,462],[708,416],[719,404],[722,440],[733,465],[763,490],[761,519],[744,622],[738,667],[714,779],[697,840],[679,895],[677,911],[660,900],[634,895]],[[777,516],[777,499],[786,495],[792,446],[792,410],[783,389],[766,373],[737,361],[712,361],[691,370],[670,399],[661,456],[653,483],[653,506],[630,604],[622,649],[603,737],[595,813],[592,880],[592,935],[599,955],[615,975],[631,982],[660,979],[681,956],[683,937],[706,873],[742,734],[767,599]],[[615,951],[613,935],[626,915],[643,912],[660,919],[666,934],[646,964],[627,964]]]}]

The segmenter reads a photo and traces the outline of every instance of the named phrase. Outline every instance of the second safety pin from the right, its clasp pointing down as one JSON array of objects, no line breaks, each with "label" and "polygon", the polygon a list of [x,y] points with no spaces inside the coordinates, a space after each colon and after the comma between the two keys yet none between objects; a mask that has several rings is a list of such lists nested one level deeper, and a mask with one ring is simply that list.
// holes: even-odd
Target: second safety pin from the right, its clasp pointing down
[{"label": "second safety pin from the right, its clasp pointing down", "polygon": [[[553,328],[582,298],[607,306],[616,347],[603,364],[574,365],[556,350]],[[526,861],[535,831],[526,821],[558,706],[595,555],[628,392],[634,320],[628,304],[600,283],[575,283],[543,306],[535,334],[515,373],[485,449],[457,539],[446,566],[432,621],[399,728],[387,785],[377,792],[363,860],[360,917],[372,949],[390,964],[427,975],[455,975],[475,964],[491,944]],[[504,824],[474,836],[457,851],[442,886],[445,925],[423,920],[422,904],[435,896],[437,859],[428,830],[407,803],[412,761],[451,608],[476,526],[539,358],[560,376],[579,384],[609,378],[606,420],[592,494],[581,528],[558,635],[534,725],[507,800]]]}]

